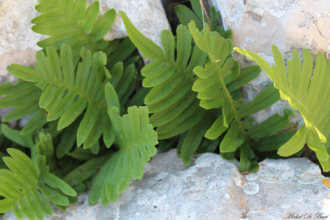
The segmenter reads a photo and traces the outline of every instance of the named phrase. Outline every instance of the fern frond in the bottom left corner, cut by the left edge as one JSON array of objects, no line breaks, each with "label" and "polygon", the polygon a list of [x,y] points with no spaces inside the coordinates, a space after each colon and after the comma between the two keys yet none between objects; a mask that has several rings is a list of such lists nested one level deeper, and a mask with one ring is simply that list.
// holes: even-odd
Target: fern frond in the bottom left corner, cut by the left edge
[{"label": "fern frond in the bottom left corner, cut by the left edge", "polygon": [[[19,219],[24,215],[28,219],[44,219],[45,214],[52,214],[52,207],[39,190],[50,201],[60,205],[69,204],[62,193],[69,196],[77,195],[68,184],[47,171],[44,156],[39,155],[38,161],[43,169],[42,172],[38,172],[40,169],[37,169],[23,152],[14,148],[8,148],[7,151],[11,157],[4,157],[3,160],[10,170],[0,170],[0,195],[5,197],[0,200],[1,213],[13,209]],[[21,169],[22,167],[24,169]],[[45,184],[40,184],[41,178]],[[55,189],[60,189],[62,193],[53,193]]]}]

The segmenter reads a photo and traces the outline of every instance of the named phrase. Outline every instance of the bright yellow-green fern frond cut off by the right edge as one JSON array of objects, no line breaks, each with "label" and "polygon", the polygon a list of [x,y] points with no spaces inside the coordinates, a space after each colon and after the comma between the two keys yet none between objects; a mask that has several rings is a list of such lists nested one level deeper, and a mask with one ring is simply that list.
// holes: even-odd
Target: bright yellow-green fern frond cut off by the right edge
[{"label": "bright yellow-green fern frond cut off by the right edge", "polygon": [[[316,57],[313,72],[311,53],[303,50],[302,64],[298,51],[292,51],[292,60],[288,60],[286,71],[281,53],[272,46],[276,66],[269,64],[259,55],[245,49],[235,48],[236,51],[257,62],[274,81],[274,86],[280,90],[281,99],[289,102],[293,109],[298,109],[305,124],[278,151],[281,156],[290,156],[301,150],[307,142],[315,151],[325,172],[330,170],[330,62],[322,53]],[[313,76],[313,78],[312,78]]]}]

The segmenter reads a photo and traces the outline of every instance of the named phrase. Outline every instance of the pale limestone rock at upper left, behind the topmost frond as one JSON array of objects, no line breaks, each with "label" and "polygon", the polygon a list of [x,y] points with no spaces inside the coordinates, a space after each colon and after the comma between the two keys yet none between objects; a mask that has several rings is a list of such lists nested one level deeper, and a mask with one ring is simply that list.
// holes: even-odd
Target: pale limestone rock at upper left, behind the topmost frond
[{"label": "pale limestone rock at upper left, behind the topmost frond", "polygon": [[[88,5],[94,0],[88,0]],[[38,16],[34,7],[38,0],[2,0],[0,3],[0,76],[7,75],[11,63],[35,65],[35,53],[41,49],[37,42],[47,38],[31,30],[31,20]],[[132,23],[148,38],[161,45],[160,32],[170,29],[160,0],[99,0],[100,15],[114,8],[123,10]],[[120,16],[106,35],[107,40],[127,36]]]}]

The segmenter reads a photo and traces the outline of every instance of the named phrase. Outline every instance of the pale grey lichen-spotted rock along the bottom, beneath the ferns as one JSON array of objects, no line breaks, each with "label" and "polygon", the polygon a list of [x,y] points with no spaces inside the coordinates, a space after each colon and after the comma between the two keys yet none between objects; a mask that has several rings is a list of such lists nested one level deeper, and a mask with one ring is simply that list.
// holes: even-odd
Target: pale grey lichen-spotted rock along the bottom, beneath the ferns
[{"label": "pale grey lichen-spotted rock along the bottom, beneath the ferns", "polygon": [[[88,194],[67,212],[54,208],[45,219],[283,219],[288,213],[330,214],[330,188],[320,169],[306,158],[264,160],[257,173],[242,174],[237,161],[196,155],[185,166],[176,150],[157,153],[142,179],[105,208],[88,204]],[[329,218],[329,217],[328,217]],[[15,219],[13,212],[4,220]]]}]

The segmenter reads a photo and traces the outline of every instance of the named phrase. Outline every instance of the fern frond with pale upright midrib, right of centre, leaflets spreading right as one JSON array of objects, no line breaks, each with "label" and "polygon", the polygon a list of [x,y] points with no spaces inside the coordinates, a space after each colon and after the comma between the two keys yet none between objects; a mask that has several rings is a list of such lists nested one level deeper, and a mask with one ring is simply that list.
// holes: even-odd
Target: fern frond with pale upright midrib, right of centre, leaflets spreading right
[{"label": "fern frond with pale upright midrib, right of centre, leaflets spreading right", "polygon": [[[274,115],[263,123],[254,126],[253,118],[249,115],[263,110],[280,99],[280,94],[273,85],[261,91],[252,101],[243,105],[243,100],[235,101],[231,95],[248,81],[255,79],[260,73],[260,67],[249,66],[242,68],[241,73],[232,71],[237,66],[232,58],[227,58],[232,51],[232,43],[224,39],[218,32],[210,32],[205,28],[202,32],[192,21],[188,24],[196,45],[206,52],[210,62],[205,67],[195,67],[193,72],[198,79],[192,89],[198,92],[200,106],[222,108],[222,114],[206,132],[205,137],[216,139],[225,131],[220,142],[220,152],[225,155],[240,149],[240,171],[257,170],[257,162],[253,153],[254,142],[274,134],[290,124],[288,117],[293,116],[291,110],[284,110],[284,116]],[[220,49],[219,49],[220,48]],[[239,66],[239,65],[238,65]],[[247,117],[247,118],[246,118]],[[191,146],[187,146],[191,148]],[[181,151],[185,150],[182,145]]]}]

